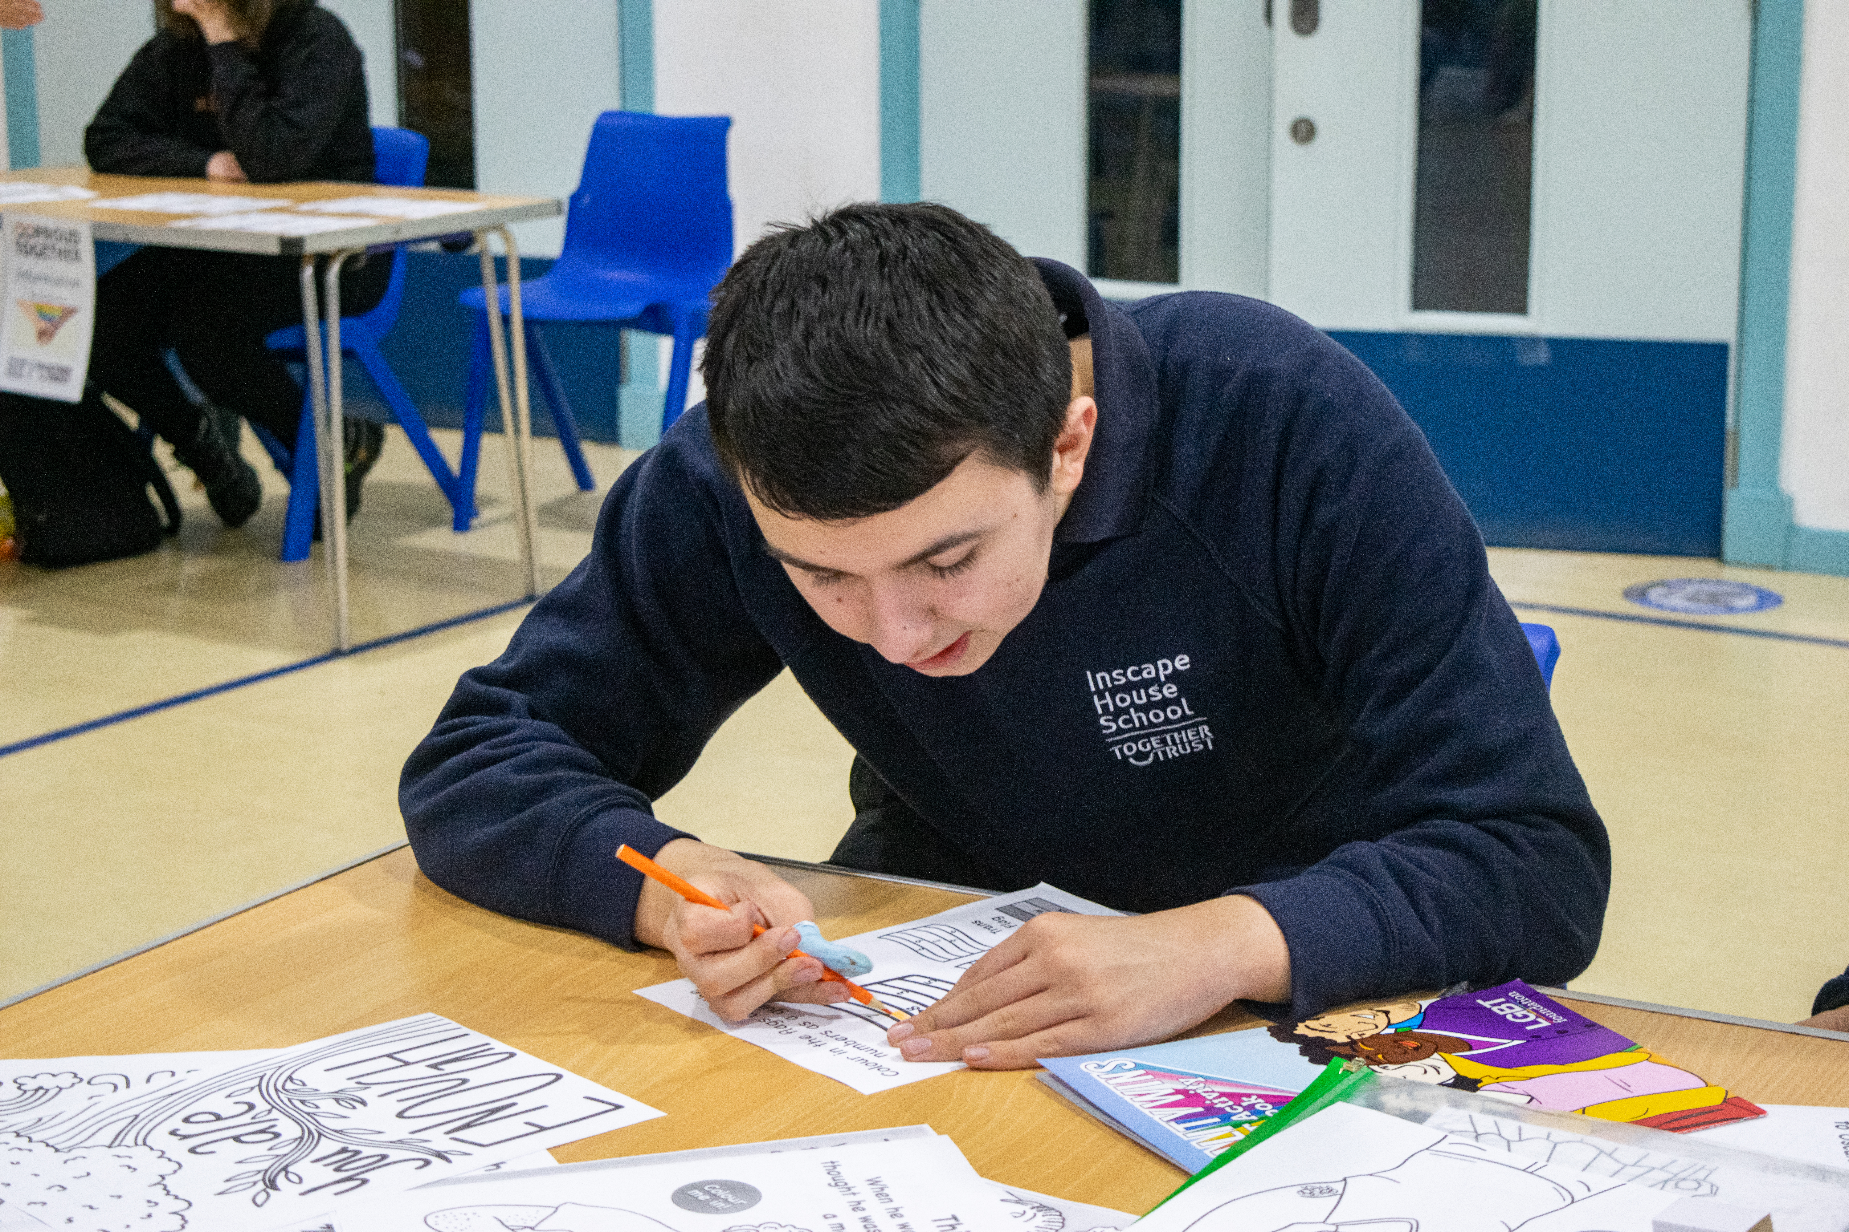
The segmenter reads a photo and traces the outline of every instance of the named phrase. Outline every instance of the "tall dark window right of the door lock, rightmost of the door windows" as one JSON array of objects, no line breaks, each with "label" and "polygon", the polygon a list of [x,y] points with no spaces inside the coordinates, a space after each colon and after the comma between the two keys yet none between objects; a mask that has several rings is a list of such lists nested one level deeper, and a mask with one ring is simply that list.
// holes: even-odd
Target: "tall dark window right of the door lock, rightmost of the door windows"
[{"label": "tall dark window right of the door lock, rightmost of the door windows", "polygon": [[1527,312],[1535,2],[1424,0],[1414,308]]}]

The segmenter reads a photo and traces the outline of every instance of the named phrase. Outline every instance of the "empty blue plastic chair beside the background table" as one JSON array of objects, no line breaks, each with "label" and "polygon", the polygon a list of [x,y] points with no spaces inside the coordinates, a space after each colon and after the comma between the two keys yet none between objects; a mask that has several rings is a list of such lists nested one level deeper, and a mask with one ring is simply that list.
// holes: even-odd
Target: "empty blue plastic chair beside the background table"
[{"label": "empty blue plastic chair beside the background table", "polygon": [[[577,486],[594,486],[577,417],[536,321],[599,321],[671,334],[662,430],[688,397],[693,344],[706,332],[714,284],[732,264],[732,199],[725,179],[727,116],[655,116],[605,111],[592,126],[584,172],[566,212],[564,251],[544,277],[521,281],[527,358],[553,412]],[[481,314],[462,401],[462,473],[457,530],[475,515],[475,467],[488,401],[488,310],[479,288],[462,307]],[[501,286],[501,312],[508,312]]]}]

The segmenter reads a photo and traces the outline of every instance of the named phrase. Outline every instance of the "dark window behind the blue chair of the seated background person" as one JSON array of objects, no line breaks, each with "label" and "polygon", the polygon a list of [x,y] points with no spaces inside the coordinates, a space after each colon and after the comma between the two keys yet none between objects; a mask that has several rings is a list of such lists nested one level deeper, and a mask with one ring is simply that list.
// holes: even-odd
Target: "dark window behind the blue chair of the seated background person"
[{"label": "dark window behind the blue chair of the seated background person", "polygon": [[398,0],[398,122],[431,139],[423,183],[475,187],[468,0]]}]

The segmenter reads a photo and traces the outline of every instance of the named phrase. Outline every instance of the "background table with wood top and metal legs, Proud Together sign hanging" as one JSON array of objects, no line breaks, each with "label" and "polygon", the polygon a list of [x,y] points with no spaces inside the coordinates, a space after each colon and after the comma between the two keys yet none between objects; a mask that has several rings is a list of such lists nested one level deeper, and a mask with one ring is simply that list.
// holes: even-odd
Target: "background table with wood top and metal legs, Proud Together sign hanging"
[{"label": "background table with wood top and metal legs, Proud Together sign hanging", "polygon": [[[342,465],[344,393],[338,362],[322,362],[322,331],[314,321],[322,316],[320,301],[327,301],[325,351],[340,356],[340,268],[368,248],[381,244],[409,244],[444,235],[473,233],[481,248],[481,284],[488,297],[488,325],[494,342],[494,377],[501,393],[501,423],[514,425],[508,432],[508,488],[514,495],[514,521],[520,537],[520,560],[527,597],[540,593],[538,513],[533,502],[533,412],[527,397],[527,338],[521,329],[520,305],[520,246],[508,223],[531,218],[553,218],[560,203],[553,198],[518,198],[492,192],[464,192],[455,188],[399,188],[392,185],[353,183],[292,183],[292,185],[235,185],[216,179],[170,179],[157,175],[100,175],[83,166],[31,168],[0,174],[0,179],[28,179],[48,185],[78,185],[98,196],[92,201],[35,201],[13,205],[26,214],[81,218],[91,223],[96,240],[120,244],[153,244],[159,248],[198,248],[214,253],[255,253],[264,257],[296,257],[301,260],[301,320],[309,351],[309,395],[314,406],[316,441],[320,443],[322,475],[322,537],[327,545],[327,584],[333,593],[335,650],[353,646],[348,619],[348,550],[346,519],[335,512],[346,508],[346,467]],[[337,231],[314,235],[261,235],[235,229],[176,227],[190,216],[155,214],[141,211],[96,209],[94,201],[109,198],[144,196],[150,192],[207,192],[214,196],[274,198],[296,203],[335,201],[340,198],[381,196],[418,198],[433,201],[462,201],[470,209],[435,218],[379,218]],[[488,235],[499,235],[507,249],[508,320],[512,338],[512,380],[508,380],[508,347],[501,336],[501,301],[496,296],[494,257],[488,253]],[[316,273],[322,288],[316,288]],[[285,441],[294,443],[294,441]]]}]

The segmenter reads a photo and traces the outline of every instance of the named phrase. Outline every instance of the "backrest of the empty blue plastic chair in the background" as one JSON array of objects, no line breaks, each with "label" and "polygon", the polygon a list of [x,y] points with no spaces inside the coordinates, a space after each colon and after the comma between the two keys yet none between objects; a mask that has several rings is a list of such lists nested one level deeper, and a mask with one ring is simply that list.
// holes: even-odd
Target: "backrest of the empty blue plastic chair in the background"
[{"label": "backrest of the empty blue plastic chair in the background", "polygon": [[712,288],[732,264],[730,116],[605,111],[566,214],[560,264],[636,270]]}]

